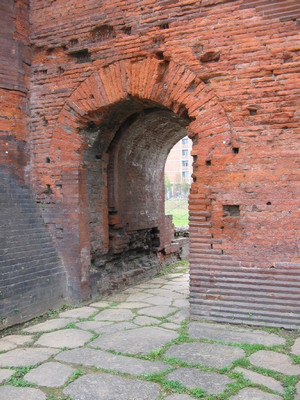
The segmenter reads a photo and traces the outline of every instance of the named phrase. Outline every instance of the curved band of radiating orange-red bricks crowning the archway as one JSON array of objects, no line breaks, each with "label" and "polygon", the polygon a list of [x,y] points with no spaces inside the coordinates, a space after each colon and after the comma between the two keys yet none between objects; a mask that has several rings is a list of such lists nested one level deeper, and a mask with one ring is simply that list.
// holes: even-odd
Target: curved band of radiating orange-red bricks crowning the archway
[{"label": "curved band of radiating orange-red bricks crowning the archway", "polygon": [[[224,153],[231,142],[231,127],[219,99],[194,72],[174,61],[122,60],[95,71],[66,101],[52,135],[53,161],[78,165],[81,149],[85,147],[78,131],[90,120],[90,114],[107,110],[130,96],[188,116],[192,120],[188,135],[214,147],[215,153]],[[215,146],[216,136],[220,138],[218,146]]]}]

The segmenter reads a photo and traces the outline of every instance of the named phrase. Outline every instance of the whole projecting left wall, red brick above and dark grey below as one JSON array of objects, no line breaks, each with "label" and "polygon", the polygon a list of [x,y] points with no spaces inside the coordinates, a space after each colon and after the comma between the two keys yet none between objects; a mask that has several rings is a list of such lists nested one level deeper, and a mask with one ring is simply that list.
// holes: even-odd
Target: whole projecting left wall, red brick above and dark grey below
[{"label": "whole projecting left wall, red brick above and dark grey below", "polygon": [[65,270],[30,188],[29,0],[0,2],[0,330],[56,308]]}]

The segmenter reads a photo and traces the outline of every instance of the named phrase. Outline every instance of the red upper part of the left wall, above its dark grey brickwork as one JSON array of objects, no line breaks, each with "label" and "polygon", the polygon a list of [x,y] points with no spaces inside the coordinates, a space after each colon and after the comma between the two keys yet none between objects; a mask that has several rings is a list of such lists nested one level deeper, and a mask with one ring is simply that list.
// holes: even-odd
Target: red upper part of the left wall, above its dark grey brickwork
[{"label": "red upper part of the left wall, above its dark grey brickwork", "polygon": [[2,2],[0,23],[0,164],[23,178],[29,161],[29,1]]}]

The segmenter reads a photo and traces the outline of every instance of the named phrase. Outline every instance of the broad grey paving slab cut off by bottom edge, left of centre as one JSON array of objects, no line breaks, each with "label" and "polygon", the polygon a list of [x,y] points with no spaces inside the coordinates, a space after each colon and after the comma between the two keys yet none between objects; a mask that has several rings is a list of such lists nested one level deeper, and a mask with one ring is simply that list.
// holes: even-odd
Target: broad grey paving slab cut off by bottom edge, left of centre
[{"label": "broad grey paving slab cut off by bottom edge, left of centre", "polygon": [[156,383],[126,379],[109,374],[85,375],[67,386],[64,395],[73,400],[156,400]]}]

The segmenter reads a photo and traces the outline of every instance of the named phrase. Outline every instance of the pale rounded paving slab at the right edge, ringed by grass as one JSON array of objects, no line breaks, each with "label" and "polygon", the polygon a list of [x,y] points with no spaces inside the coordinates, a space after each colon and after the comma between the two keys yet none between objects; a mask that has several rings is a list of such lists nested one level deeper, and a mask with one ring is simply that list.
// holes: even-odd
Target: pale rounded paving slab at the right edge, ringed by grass
[{"label": "pale rounded paving slab at the right edge, ringed by grass", "polygon": [[300,375],[300,365],[293,364],[292,359],[275,351],[260,350],[249,357],[251,364],[271,369],[284,375]]}]

